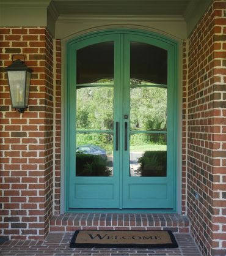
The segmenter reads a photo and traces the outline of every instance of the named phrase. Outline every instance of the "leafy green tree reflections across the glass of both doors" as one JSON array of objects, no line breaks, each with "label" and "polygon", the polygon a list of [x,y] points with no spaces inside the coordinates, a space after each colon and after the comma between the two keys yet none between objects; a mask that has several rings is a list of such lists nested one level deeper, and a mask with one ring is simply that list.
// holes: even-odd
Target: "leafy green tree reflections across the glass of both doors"
[{"label": "leafy green tree reflections across the glass of both doors", "polygon": [[[103,79],[98,81],[98,83],[109,84],[111,82]],[[145,83],[147,82],[131,79],[131,129],[166,130],[167,89],[145,87]],[[138,84],[143,86],[137,88]],[[150,82],[148,82],[149,84]],[[76,92],[76,128],[79,130],[113,130],[113,86],[107,87],[90,84],[89,87],[78,87]],[[99,143],[92,136],[89,141],[85,138],[84,140],[81,139],[79,144],[104,145],[104,148],[112,149],[112,136],[106,137],[106,135],[101,134],[98,140],[100,140]],[[137,140],[131,140],[130,143],[131,145],[141,145],[140,143],[165,145],[166,141],[162,137],[150,135],[149,137],[142,138],[140,143]]]}]

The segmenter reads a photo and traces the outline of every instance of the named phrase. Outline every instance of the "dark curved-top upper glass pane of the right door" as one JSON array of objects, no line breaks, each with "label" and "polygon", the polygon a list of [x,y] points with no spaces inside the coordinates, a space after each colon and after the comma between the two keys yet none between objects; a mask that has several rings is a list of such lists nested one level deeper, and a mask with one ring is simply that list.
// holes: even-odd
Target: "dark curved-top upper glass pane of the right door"
[{"label": "dark curved-top upper glass pane of the right door", "polygon": [[131,42],[130,83],[167,85],[167,51],[148,43]]}]

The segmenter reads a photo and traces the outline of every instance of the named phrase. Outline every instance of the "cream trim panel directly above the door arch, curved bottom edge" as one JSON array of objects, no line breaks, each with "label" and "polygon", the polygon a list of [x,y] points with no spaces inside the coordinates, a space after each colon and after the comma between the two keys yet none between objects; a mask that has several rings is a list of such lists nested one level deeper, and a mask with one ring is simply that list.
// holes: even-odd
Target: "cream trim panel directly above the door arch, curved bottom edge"
[{"label": "cream trim panel directly above the door arch, curved bottom edge", "polygon": [[73,34],[84,34],[101,29],[144,29],[156,31],[177,39],[186,39],[186,22],[183,17],[144,17],[112,15],[67,15],[56,21],[56,38],[65,39]]}]

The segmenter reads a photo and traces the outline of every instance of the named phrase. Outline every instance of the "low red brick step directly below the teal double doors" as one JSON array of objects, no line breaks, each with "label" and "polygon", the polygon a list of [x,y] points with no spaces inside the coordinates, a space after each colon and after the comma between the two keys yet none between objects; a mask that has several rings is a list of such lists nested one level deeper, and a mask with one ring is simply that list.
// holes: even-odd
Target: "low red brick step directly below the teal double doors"
[{"label": "low red brick step directly below the teal double doors", "polygon": [[97,230],[172,230],[189,232],[189,219],[180,214],[133,213],[65,213],[52,216],[50,232],[73,232],[78,229]]}]

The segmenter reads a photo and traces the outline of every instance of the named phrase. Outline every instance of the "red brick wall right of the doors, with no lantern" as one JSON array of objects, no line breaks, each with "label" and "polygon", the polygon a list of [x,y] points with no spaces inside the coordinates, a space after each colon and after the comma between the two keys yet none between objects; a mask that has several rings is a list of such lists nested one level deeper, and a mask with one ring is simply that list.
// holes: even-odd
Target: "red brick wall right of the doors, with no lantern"
[{"label": "red brick wall right of the doors, with no lantern", "polygon": [[195,241],[212,256],[226,255],[225,9],[214,1],[188,45],[187,209]]}]

